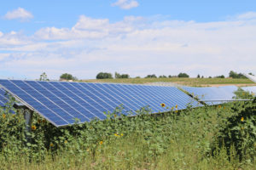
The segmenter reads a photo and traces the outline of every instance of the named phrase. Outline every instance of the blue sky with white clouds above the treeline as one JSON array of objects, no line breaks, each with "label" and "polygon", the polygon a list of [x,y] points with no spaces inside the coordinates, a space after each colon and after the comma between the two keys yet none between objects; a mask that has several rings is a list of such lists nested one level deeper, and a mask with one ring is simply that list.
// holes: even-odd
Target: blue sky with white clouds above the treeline
[{"label": "blue sky with white clouds above the treeline", "polygon": [[100,71],[256,74],[255,0],[44,0],[0,5],[0,78]]}]

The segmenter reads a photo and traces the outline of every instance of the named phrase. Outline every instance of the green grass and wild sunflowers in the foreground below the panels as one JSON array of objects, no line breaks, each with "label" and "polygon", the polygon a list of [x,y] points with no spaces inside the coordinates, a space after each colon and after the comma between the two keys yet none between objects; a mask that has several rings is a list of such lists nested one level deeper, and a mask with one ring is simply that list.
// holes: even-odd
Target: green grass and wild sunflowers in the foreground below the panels
[{"label": "green grass and wild sunflowers in the foreground below the panels", "polygon": [[[37,129],[27,134],[32,138],[28,145],[22,114],[12,116],[0,110],[0,169],[253,169],[256,154],[239,156],[238,148],[216,143],[221,129],[230,124],[229,117],[238,117],[232,123],[238,132],[248,134],[240,127],[255,123],[255,110],[245,109],[251,103],[154,116],[147,110],[134,117],[112,113],[105,121],[62,128],[35,115],[32,125]],[[241,122],[239,114],[245,112],[254,119],[244,115]],[[256,149],[255,136],[251,139]],[[238,140],[244,141],[243,137]]]}]

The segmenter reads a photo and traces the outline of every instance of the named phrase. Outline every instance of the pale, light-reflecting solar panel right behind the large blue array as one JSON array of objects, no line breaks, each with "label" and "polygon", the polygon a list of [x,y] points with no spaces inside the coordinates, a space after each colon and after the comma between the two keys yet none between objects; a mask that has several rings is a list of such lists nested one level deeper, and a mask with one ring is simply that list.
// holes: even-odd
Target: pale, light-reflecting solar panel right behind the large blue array
[{"label": "pale, light-reflecting solar panel right behind the large blue array", "polygon": [[234,92],[237,90],[234,86],[228,87],[208,87],[208,88],[193,88],[193,87],[183,87],[185,91],[193,96],[205,100],[207,105],[219,105],[225,103],[225,101],[207,101],[207,100],[230,100],[236,97]]}]

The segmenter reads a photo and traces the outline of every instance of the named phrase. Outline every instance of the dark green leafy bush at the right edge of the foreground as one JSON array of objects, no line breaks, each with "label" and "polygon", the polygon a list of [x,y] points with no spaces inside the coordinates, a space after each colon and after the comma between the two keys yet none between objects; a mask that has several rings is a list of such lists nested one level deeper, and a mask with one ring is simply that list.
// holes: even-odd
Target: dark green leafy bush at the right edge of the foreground
[{"label": "dark green leafy bush at the right edge of the foreground", "polygon": [[218,133],[218,147],[236,148],[240,160],[252,161],[256,156],[256,98],[231,108],[237,114],[230,116]]}]

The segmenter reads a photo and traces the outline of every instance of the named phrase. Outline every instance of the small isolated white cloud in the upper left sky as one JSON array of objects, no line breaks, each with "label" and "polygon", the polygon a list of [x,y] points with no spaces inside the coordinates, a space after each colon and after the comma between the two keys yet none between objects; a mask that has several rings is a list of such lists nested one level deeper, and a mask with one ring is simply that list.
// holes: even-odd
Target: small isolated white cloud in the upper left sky
[{"label": "small isolated white cloud in the upper left sky", "polygon": [[24,8],[17,8],[13,11],[9,11],[7,12],[7,14],[5,14],[3,16],[4,19],[7,20],[20,20],[20,21],[25,21],[25,20],[30,20],[33,18],[32,13],[30,13],[29,11],[27,11]]}]

